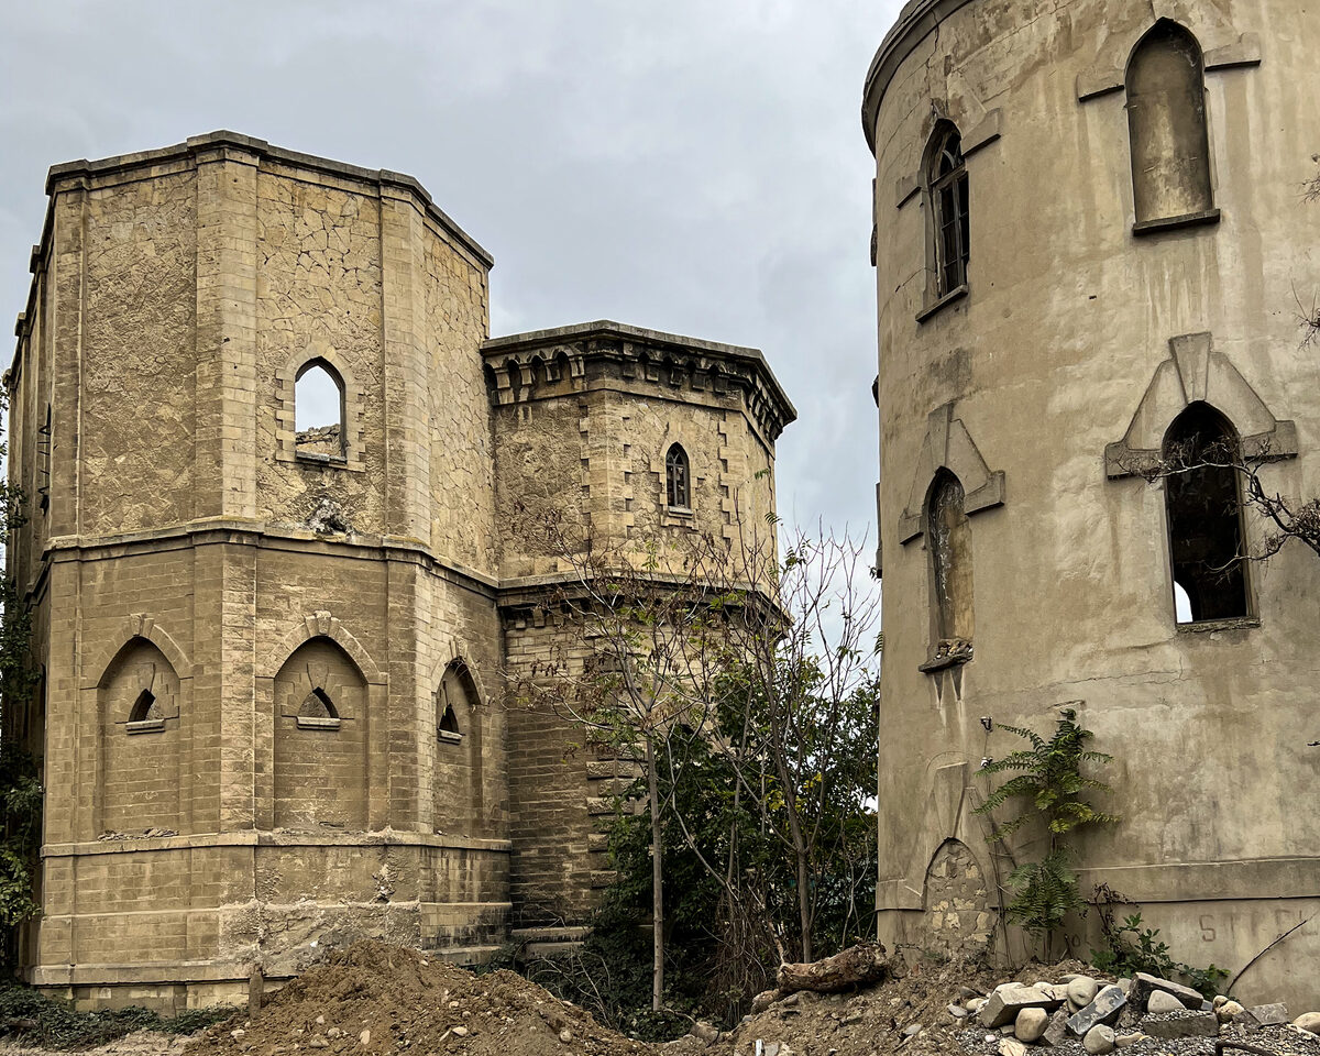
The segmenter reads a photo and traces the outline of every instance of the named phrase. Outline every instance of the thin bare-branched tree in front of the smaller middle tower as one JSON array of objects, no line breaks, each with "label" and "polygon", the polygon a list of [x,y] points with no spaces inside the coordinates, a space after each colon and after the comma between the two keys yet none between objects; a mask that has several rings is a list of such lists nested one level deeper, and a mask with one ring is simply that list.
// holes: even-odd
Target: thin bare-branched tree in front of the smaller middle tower
[{"label": "thin bare-branched tree in front of the smaller middle tower", "polygon": [[[737,840],[723,861],[706,857],[673,799],[693,737],[729,764],[735,816],[755,816],[793,862],[793,945],[809,961],[818,903],[830,896],[818,882],[824,845],[845,838],[824,809],[836,793],[832,759],[841,739],[855,735],[858,694],[876,692],[879,598],[865,541],[793,533],[780,560],[774,520],[748,524],[734,513],[733,521],[718,537],[682,532],[665,545],[612,548],[572,537],[557,521],[539,527],[546,552],[570,569],[553,606],[564,626],[576,628],[576,640],[524,673],[516,696],[553,709],[642,766],[655,1010],[664,990],[667,818],[725,891],[733,929],[767,916],[764,892],[739,869]],[[857,816],[871,792],[857,793]],[[871,865],[867,858],[866,869]]]}]

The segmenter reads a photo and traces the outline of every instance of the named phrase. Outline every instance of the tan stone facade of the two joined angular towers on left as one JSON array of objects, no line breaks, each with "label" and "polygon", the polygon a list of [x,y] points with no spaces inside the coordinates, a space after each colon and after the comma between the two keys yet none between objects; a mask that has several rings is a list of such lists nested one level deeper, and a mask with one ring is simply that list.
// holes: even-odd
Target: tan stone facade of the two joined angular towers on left
[{"label": "tan stone facade of the two joined angular towers on left", "polygon": [[[198,1005],[362,933],[475,961],[581,924],[616,764],[504,706],[573,640],[519,511],[615,543],[771,511],[793,411],[760,354],[490,341],[492,261],[416,181],[234,133],[48,191],[8,374],[44,681],[5,733],[48,788],[28,977]],[[300,445],[309,364],[342,413]]]}]

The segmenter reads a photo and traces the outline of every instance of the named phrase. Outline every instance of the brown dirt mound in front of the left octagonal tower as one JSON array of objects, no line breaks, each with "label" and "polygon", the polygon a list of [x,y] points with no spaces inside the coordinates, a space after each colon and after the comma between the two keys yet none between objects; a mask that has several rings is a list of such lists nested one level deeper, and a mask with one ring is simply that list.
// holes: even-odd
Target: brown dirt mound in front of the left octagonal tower
[{"label": "brown dirt mound in front of the left octagonal tower", "polygon": [[474,975],[376,940],[330,954],[267,999],[199,1035],[187,1056],[325,1053],[636,1056],[648,1047],[512,972]]}]

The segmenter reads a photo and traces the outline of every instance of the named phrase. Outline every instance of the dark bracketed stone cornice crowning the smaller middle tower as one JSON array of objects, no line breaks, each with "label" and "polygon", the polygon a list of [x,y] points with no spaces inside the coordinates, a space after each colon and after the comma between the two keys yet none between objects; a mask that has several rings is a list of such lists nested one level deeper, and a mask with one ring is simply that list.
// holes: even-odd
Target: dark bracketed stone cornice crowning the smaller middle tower
[{"label": "dark bracketed stone cornice crowning the smaller middle tower", "polygon": [[561,396],[595,376],[615,376],[669,399],[734,393],[771,444],[797,418],[756,348],[601,319],[492,338],[482,355],[496,405]]}]

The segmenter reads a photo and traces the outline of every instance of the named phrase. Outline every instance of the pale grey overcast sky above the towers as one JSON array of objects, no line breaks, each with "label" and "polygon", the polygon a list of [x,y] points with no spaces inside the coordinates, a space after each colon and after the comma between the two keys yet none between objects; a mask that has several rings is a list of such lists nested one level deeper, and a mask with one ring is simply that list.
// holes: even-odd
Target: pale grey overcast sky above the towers
[{"label": "pale grey overcast sky above the towers", "polygon": [[228,128],[405,172],[494,253],[494,334],[610,318],[762,348],[799,411],[780,513],[874,539],[858,111],[898,7],[0,0],[0,314],[55,162]]}]

